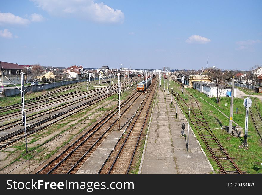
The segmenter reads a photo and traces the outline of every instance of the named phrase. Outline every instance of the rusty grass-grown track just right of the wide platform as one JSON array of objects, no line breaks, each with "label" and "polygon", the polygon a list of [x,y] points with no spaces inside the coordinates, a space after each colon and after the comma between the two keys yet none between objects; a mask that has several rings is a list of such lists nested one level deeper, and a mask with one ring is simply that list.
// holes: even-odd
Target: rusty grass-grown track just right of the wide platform
[{"label": "rusty grass-grown track just right of the wide platform", "polygon": [[[176,97],[175,92],[173,92],[173,96]],[[211,130],[210,126],[208,125],[201,112],[197,100],[192,95],[190,95],[189,100],[191,102],[191,106],[189,106],[188,103],[186,103],[186,101],[179,94],[178,97],[178,103],[187,115],[187,109],[190,107],[192,108],[193,118],[190,118],[191,124],[193,124],[199,136],[205,143],[213,159],[219,166],[221,173],[243,174],[242,171],[236,165],[236,163],[233,161],[233,159],[227,154],[226,150],[223,148],[219,140],[214,135],[213,131]],[[192,100],[194,101],[194,103]],[[197,109],[195,107],[197,107]]]}]

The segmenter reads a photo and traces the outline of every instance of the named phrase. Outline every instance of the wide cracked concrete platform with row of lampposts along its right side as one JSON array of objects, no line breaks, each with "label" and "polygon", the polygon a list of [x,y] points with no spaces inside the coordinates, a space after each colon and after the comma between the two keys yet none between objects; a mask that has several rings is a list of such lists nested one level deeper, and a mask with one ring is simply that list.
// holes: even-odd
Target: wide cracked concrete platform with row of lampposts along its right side
[{"label": "wide cracked concrete platform with row of lampposts along its right side", "polygon": [[138,174],[214,174],[214,170],[201,148],[194,132],[189,130],[189,149],[182,137],[181,124],[185,123],[184,133],[188,134],[188,123],[177,108],[171,93],[157,88],[146,143]]}]

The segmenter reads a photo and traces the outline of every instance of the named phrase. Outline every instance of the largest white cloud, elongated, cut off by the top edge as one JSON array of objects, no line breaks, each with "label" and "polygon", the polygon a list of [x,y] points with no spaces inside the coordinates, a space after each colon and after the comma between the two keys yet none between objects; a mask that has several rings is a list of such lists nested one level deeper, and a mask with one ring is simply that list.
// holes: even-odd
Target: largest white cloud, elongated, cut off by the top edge
[{"label": "largest white cloud, elongated, cut off by the top edge", "polygon": [[99,23],[123,23],[124,13],[94,0],[31,0],[52,15],[74,16]]}]

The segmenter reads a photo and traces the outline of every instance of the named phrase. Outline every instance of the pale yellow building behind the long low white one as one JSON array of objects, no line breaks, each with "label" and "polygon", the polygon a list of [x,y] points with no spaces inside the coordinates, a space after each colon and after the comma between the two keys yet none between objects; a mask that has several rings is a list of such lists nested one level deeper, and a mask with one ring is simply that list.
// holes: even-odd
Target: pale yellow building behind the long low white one
[{"label": "pale yellow building behind the long low white one", "polygon": [[211,82],[211,77],[209,75],[190,75],[190,74],[178,74],[177,80],[182,82],[182,77],[185,77],[184,84],[193,87],[193,81],[204,81]]}]

